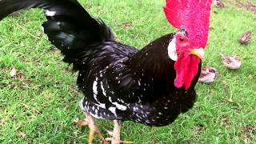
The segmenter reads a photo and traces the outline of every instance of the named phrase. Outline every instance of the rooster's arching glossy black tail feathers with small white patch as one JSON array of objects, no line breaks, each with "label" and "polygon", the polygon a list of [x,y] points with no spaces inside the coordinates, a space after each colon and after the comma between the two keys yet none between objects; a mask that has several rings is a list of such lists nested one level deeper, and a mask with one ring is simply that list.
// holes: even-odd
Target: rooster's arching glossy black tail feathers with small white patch
[{"label": "rooster's arching glossy black tail feathers with small white patch", "polygon": [[79,70],[85,51],[92,44],[114,41],[110,27],[102,20],[90,17],[75,0],[2,0],[0,19],[17,10],[41,8],[47,21],[42,24],[50,42],[64,54],[64,62],[72,63]]}]

